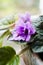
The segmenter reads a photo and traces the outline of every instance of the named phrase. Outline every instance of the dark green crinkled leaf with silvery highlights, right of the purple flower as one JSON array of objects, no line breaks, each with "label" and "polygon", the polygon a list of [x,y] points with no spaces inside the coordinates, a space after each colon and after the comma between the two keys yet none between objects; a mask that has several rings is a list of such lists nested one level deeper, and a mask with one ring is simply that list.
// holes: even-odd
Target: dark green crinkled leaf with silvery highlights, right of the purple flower
[{"label": "dark green crinkled leaf with silvery highlights, right of the purple flower", "polygon": [[37,37],[32,42],[31,48],[34,53],[40,53],[43,52],[43,22],[36,27],[36,30]]}]

